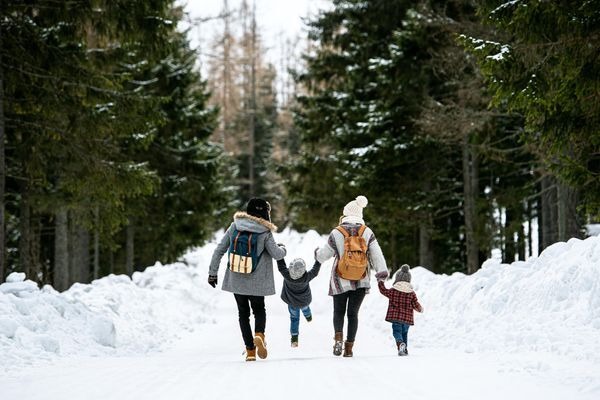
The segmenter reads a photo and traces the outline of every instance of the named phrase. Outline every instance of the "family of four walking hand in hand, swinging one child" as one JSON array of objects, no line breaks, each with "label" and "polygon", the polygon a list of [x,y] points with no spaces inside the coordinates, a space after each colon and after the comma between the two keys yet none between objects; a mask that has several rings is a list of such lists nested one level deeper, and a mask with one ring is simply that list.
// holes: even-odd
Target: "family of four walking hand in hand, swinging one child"
[{"label": "family of four walking hand in hand, swinging one child", "polygon": [[[221,259],[228,253],[227,270],[222,289],[234,294],[242,338],[246,346],[246,361],[267,357],[265,340],[265,296],[275,294],[273,260],[284,278],[281,298],[288,305],[292,347],[298,346],[300,313],[311,321],[310,281],[320,271],[321,264],[333,257],[329,278],[329,295],[333,298],[333,354],[353,356],[358,330],[360,306],[371,287],[374,271],[380,292],[389,298],[386,321],[392,323],[398,355],[407,355],[407,334],[413,325],[413,310],[422,312],[410,284],[410,270],[403,265],[396,273],[394,285],[384,285],[388,269],[383,252],[373,231],[366,226],[363,209],[368,200],[358,196],[343,209],[339,225],[329,234],[327,243],[315,249],[314,265],[307,271],[303,259],[294,259],[286,266],[285,245],[276,243],[273,233],[277,227],[271,222],[269,202],[253,198],[246,211],[234,214],[233,222],[215,249],[209,267],[208,283],[217,285]],[[254,315],[254,335],[250,324],[250,310]],[[347,319],[346,340],[344,322]]]}]

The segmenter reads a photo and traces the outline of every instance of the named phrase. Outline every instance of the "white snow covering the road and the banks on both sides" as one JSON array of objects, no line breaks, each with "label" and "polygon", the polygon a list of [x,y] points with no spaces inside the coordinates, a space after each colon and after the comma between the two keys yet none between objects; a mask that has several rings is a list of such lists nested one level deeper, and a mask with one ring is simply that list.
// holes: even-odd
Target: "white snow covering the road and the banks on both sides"
[{"label": "white snow covering the road and the banks on both sides", "polygon": [[[374,279],[355,357],[331,355],[330,262],[311,283],[314,320],[301,322],[300,347],[291,349],[276,273],[278,294],[266,300],[270,355],[249,365],[233,296],[206,283],[222,234],[179,263],[64,293],[11,274],[0,285],[2,399],[226,399],[245,396],[250,385],[260,398],[600,396],[600,237],[556,243],[510,265],[488,260],[471,276],[413,268],[425,312],[415,314],[408,357],[395,355],[387,299]],[[286,244],[288,261],[303,257],[310,266],[326,238],[286,229],[276,240]],[[226,369],[239,385],[227,383]],[[303,390],[289,391],[292,383]]]}]

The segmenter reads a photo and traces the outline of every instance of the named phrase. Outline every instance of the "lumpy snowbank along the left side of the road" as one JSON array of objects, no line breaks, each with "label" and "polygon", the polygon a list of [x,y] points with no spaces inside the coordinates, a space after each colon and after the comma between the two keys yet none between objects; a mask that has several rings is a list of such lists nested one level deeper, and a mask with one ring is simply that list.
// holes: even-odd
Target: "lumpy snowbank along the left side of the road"
[{"label": "lumpy snowbank along the left side of the road", "polygon": [[0,371],[55,356],[160,349],[204,322],[211,302],[198,272],[157,263],[132,279],[110,275],[63,293],[13,273],[0,285]]}]

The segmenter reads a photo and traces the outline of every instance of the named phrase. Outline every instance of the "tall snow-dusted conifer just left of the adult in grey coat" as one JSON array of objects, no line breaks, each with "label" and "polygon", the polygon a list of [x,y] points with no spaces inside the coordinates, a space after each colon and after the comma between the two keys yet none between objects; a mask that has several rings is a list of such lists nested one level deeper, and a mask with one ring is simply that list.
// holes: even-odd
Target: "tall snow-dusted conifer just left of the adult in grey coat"
[{"label": "tall snow-dusted conifer just left of the adult in grey coat", "polygon": [[207,239],[223,214],[231,211],[222,189],[222,151],[208,142],[216,129],[217,110],[207,106],[206,82],[195,69],[197,55],[184,33],[173,30],[167,42],[165,57],[149,66],[144,78],[156,80],[152,94],[163,99],[159,111],[164,122],[148,149],[137,155],[155,171],[158,184],[141,207],[128,207],[135,247],[143,249],[131,257],[142,266],[175,261]]}]

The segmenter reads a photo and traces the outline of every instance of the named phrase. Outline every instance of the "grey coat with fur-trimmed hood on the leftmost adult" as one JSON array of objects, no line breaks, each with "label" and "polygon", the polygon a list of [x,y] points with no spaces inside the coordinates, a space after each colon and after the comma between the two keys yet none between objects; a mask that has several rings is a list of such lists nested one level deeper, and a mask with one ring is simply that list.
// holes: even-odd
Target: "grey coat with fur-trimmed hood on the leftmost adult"
[{"label": "grey coat with fur-trimmed hood on the leftmost adult", "polygon": [[277,227],[267,220],[254,217],[242,211],[235,213],[233,223],[229,226],[223,239],[217,245],[210,262],[209,275],[217,275],[221,259],[229,250],[229,244],[233,240],[234,227],[238,231],[260,234],[257,243],[257,251],[261,255],[260,261],[251,274],[240,274],[227,269],[221,288],[227,292],[247,296],[270,296],[275,294],[273,259],[280,260],[286,254],[285,248],[277,246],[273,238],[273,232],[277,230]]}]

